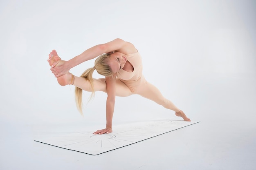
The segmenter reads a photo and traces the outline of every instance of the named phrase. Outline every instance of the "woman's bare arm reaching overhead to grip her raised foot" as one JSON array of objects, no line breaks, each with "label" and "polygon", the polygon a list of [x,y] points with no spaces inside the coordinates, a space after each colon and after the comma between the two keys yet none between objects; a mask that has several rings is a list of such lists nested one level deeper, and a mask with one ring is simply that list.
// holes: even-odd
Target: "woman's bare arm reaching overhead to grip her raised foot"
[{"label": "woman's bare arm reaching overhead to grip her raised foot", "polygon": [[54,73],[55,77],[60,77],[61,75],[64,75],[65,73],[70,71],[71,68],[81,64],[82,62],[94,59],[103,53],[118,51],[120,49],[123,49],[125,45],[126,42],[124,40],[117,38],[105,44],[93,46],[68,61],[60,60],[59,62],[56,62],[52,66],[51,71],[52,73]]}]

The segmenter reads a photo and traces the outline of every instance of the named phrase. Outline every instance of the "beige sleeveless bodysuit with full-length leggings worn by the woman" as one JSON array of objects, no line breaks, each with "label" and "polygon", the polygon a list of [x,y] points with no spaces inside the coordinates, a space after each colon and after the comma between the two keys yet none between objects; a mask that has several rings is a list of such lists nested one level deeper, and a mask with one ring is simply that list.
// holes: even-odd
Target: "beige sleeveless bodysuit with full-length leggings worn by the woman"
[{"label": "beige sleeveless bodysuit with full-length leggings worn by the woman", "polygon": [[[178,112],[179,109],[168,99],[164,98],[161,92],[152,84],[146,81],[142,74],[142,60],[139,52],[127,54],[127,61],[133,66],[133,71],[128,72],[123,69],[117,72],[116,95],[126,97],[132,94],[141,95],[153,100],[165,108]],[[94,79],[94,90],[107,93],[105,78]],[[91,84],[84,77],[75,77],[74,85],[85,90],[92,91]]]}]

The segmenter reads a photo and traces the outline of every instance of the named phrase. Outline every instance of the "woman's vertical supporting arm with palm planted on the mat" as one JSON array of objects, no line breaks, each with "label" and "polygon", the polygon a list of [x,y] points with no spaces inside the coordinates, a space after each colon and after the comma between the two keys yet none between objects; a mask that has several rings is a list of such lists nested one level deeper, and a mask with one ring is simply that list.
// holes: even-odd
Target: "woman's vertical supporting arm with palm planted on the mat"
[{"label": "woman's vertical supporting arm with palm planted on the mat", "polygon": [[107,102],[106,102],[106,128],[97,130],[94,134],[104,134],[104,133],[111,133],[112,132],[112,119],[114,114],[115,108],[115,98],[116,98],[116,77],[115,75],[106,77],[106,84],[107,84]]}]

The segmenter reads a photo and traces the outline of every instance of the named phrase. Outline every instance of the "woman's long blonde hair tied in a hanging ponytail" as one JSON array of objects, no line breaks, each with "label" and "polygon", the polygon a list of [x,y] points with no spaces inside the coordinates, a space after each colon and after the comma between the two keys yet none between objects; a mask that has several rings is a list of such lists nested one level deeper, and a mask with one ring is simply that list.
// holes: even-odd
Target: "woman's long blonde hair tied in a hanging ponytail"
[{"label": "woman's long blonde hair tied in a hanging ponytail", "polygon": [[[92,74],[93,71],[96,70],[100,75],[103,76],[111,76],[114,73],[112,72],[110,66],[108,65],[110,53],[104,53],[97,57],[97,59],[94,62],[94,67],[88,68],[83,72],[83,74],[80,77],[84,77],[85,79],[89,80],[91,84],[91,91],[92,94],[90,96],[89,101],[95,96],[95,91],[94,91],[94,85],[93,85],[93,78]],[[75,87],[75,99],[76,99],[76,107],[79,110],[81,114],[83,114],[82,111],[82,93],[83,90],[81,88]]]}]

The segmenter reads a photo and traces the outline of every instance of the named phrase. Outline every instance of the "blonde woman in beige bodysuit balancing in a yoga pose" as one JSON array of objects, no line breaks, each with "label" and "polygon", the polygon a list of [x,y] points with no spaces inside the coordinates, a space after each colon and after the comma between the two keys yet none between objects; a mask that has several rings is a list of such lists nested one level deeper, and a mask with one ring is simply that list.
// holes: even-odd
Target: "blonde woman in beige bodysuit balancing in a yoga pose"
[{"label": "blonde woman in beige bodysuit balancing in a yoga pose", "polygon": [[[68,72],[74,66],[96,57],[94,66],[88,68],[81,77],[76,77]],[[93,46],[69,61],[61,60],[57,52],[53,50],[47,61],[61,86],[67,84],[76,86],[76,104],[81,113],[82,90],[90,91],[92,95],[94,95],[94,91],[103,91],[108,94],[106,128],[97,130],[94,134],[101,135],[112,132],[112,117],[116,96],[126,97],[138,94],[175,111],[175,115],[182,117],[184,121],[191,121],[182,110],[168,99],[165,99],[155,86],[146,81],[142,75],[141,56],[130,42],[115,39],[105,44]],[[92,73],[94,70],[105,76],[105,79],[93,79]]]}]

